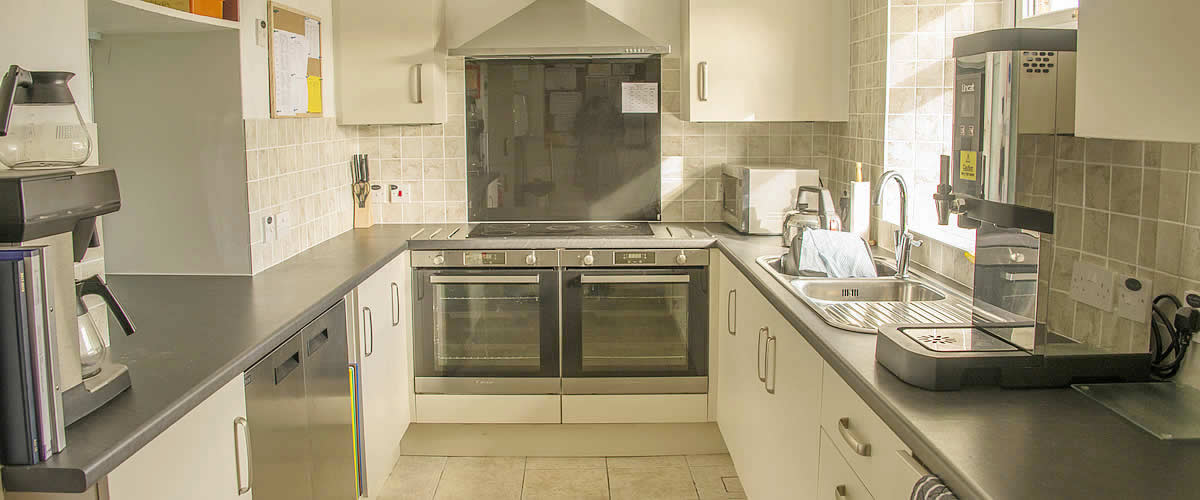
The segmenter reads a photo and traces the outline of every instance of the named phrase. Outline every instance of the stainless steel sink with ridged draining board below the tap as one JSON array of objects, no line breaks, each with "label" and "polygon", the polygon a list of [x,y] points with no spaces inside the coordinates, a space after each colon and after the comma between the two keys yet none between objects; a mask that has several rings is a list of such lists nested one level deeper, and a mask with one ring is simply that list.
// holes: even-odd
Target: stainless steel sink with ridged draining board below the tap
[{"label": "stainless steel sink with ridged draining board below the tap", "polygon": [[764,255],[757,261],[792,295],[836,329],[878,333],[880,326],[889,324],[971,324],[970,299],[936,287],[912,272],[908,278],[895,278],[895,267],[881,259],[875,260],[880,275],[876,278],[785,275],[779,257]]}]

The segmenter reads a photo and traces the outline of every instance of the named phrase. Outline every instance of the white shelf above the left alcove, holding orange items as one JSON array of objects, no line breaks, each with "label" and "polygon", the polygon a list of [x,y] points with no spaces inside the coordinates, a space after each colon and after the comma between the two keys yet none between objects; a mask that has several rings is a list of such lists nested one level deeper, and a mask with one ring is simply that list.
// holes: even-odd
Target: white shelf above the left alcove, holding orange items
[{"label": "white shelf above the left alcove, holding orange items", "polygon": [[236,20],[176,11],[142,0],[88,0],[88,31],[136,35],[238,30]]}]

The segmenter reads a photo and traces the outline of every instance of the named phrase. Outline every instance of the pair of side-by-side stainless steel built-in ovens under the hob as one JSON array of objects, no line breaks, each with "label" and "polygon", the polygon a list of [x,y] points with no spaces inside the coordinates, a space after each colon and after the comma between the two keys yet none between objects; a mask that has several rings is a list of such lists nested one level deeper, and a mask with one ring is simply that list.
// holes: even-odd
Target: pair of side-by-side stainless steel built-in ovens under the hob
[{"label": "pair of side-by-side stainless steel built-in ovens under the hob", "polygon": [[708,251],[413,253],[426,394],[708,392]]}]

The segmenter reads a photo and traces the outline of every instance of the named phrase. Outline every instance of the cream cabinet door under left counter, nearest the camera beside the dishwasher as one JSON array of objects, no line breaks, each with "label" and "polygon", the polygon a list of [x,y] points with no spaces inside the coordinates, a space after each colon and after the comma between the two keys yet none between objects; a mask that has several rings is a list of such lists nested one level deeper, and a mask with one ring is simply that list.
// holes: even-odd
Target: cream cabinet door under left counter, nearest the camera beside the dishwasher
[{"label": "cream cabinet door under left counter, nearest the camera beside the dishwasher", "polygon": [[238,374],[109,472],[109,498],[253,498],[246,434],[252,424],[246,422],[246,385]]}]

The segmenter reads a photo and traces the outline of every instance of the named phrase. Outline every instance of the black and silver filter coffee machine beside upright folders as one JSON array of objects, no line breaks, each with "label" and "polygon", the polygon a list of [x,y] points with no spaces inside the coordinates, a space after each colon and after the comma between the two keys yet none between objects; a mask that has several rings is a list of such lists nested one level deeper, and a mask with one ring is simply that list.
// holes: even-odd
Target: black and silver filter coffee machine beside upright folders
[{"label": "black and silver filter coffee machine beside upright folders", "polygon": [[[133,324],[124,314],[116,297],[98,277],[74,281],[74,263],[83,260],[90,246],[98,245],[97,217],[120,209],[121,198],[116,173],[112,168],[82,167],[52,170],[0,170],[0,251],[28,249],[37,257],[43,270],[44,284],[31,300],[44,305],[46,345],[53,348],[43,353],[46,362],[38,367],[53,367],[41,374],[29,376],[53,379],[42,394],[43,405],[55,414],[46,434],[60,439],[54,452],[66,445],[61,439],[66,426],[100,408],[130,387],[128,369],[107,360],[103,349],[82,356],[79,313],[80,295],[104,296],[114,315],[126,333],[133,332]],[[86,308],[83,307],[84,319]],[[90,321],[90,320],[89,320]],[[28,330],[28,329],[26,329]],[[31,336],[22,329],[4,329],[0,335],[8,337]],[[90,347],[95,349],[95,345]],[[98,356],[95,356],[98,354]],[[88,357],[88,359],[84,359]],[[18,363],[22,365],[22,363]],[[29,371],[37,367],[6,366],[5,373]],[[86,373],[85,373],[86,371]],[[58,411],[53,411],[58,408]],[[13,417],[12,408],[2,408],[5,418]],[[7,422],[6,421],[6,422]],[[42,458],[44,459],[44,458]],[[37,462],[37,460],[35,460]],[[11,462],[10,462],[11,463]]]}]

